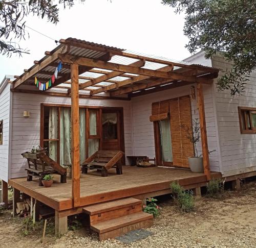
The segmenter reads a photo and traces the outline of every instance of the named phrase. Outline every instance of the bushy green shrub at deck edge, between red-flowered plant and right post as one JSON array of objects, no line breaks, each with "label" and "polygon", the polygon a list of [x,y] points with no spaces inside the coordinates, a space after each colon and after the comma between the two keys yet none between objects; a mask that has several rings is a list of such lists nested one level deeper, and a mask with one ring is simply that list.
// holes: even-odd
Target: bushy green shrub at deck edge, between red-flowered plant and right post
[{"label": "bushy green shrub at deck edge, between red-flowered plant and right post", "polygon": [[178,183],[170,184],[170,189],[174,194],[174,200],[182,212],[188,213],[195,209],[195,197],[192,190],[184,190]]}]

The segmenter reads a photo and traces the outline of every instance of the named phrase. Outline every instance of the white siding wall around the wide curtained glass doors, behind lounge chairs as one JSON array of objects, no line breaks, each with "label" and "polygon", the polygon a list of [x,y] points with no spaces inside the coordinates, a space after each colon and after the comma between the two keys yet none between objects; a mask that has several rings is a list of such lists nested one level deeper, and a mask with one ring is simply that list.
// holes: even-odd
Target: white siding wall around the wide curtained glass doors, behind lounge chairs
[{"label": "white siding wall around the wide curtained glass doors, behind lounge chairs", "polygon": [[[11,178],[26,176],[26,160],[21,153],[40,143],[40,104],[71,104],[70,97],[57,97],[39,94],[13,93],[12,121],[12,160]],[[125,154],[132,154],[131,144],[131,102],[117,100],[79,99],[80,105],[123,107]],[[30,111],[30,117],[24,118],[23,111]]]}]

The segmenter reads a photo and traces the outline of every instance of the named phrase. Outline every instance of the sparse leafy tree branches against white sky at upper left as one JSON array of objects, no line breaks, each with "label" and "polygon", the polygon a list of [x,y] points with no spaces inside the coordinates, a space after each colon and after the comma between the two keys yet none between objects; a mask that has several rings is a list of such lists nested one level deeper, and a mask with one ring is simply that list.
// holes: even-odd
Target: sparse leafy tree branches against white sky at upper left
[{"label": "sparse leafy tree branches against white sky at upper left", "polygon": [[[79,0],[84,2],[85,0]],[[77,1],[78,2],[78,1]],[[0,0],[0,54],[11,56],[13,53],[22,55],[27,50],[19,47],[16,40],[25,39],[28,33],[25,30],[24,18],[29,14],[47,18],[57,23],[58,5],[63,8],[72,7],[74,0]]]}]

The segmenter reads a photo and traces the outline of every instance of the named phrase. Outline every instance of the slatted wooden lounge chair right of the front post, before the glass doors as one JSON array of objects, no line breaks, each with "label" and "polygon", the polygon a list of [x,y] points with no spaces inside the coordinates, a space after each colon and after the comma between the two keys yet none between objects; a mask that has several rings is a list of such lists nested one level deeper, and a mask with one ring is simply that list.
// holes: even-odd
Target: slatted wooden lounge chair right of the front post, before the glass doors
[{"label": "slatted wooden lounge chair right of the front post, before the glass doors", "polygon": [[88,168],[101,170],[101,176],[107,177],[108,170],[112,167],[116,168],[116,173],[121,175],[122,172],[122,164],[120,162],[124,153],[121,151],[98,151],[94,153],[92,156],[87,158],[82,163],[82,173],[87,173]]}]

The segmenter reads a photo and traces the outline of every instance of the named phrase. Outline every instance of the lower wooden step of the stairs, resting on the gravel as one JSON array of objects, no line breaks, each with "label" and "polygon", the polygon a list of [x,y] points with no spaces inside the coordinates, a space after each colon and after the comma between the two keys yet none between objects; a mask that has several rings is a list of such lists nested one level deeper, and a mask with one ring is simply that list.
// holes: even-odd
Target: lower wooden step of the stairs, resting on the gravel
[{"label": "lower wooden step of the stairs, resting on the gravel", "polygon": [[145,212],[125,215],[91,225],[91,229],[99,233],[99,240],[114,238],[127,232],[153,225],[153,215]]}]

